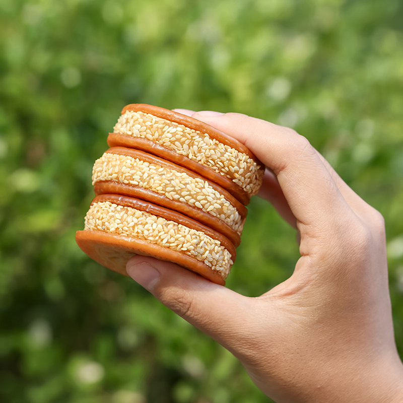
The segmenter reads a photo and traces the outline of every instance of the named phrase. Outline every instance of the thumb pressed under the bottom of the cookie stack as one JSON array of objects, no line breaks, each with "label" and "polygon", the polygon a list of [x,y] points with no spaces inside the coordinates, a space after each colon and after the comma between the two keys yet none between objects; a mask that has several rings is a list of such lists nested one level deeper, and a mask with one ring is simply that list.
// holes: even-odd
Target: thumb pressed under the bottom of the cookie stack
[{"label": "thumb pressed under the bottom of the cookie stack", "polygon": [[250,337],[252,298],[153,257],[133,256],[126,271],[165,306],[230,351],[236,352],[237,341]]}]

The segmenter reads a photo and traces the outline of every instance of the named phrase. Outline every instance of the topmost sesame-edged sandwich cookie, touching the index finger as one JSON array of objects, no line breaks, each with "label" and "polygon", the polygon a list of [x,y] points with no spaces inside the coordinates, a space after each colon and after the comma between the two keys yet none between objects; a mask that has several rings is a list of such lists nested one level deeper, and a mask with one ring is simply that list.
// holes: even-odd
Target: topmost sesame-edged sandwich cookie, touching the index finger
[{"label": "topmost sesame-edged sandwich cookie, touching the index finger", "polygon": [[[147,151],[157,155],[162,152],[161,156],[167,159],[171,159],[171,154],[175,153],[182,159],[173,162],[183,164],[201,175],[208,176],[209,173],[200,171],[192,164],[186,165],[188,161],[185,160],[208,168],[216,176],[221,175],[239,188],[244,195],[239,195],[237,189],[230,189],[231,186],[226,187],[225,181],[220,183],[215,180],[216,177],[211,178],[245,205],[261,185],[264,166],[243,144],[189,116],[151,105],[131,104],[123,108],[113,134],[131,138],[134,143],[128,144],[129,147],[142,148],[144,142],[150,142]],[[114,139],[112,136],[112,144],[108,139],[110,146],[124,145],[114,142]],[[164,149],[168,150],[165,155]]]}]

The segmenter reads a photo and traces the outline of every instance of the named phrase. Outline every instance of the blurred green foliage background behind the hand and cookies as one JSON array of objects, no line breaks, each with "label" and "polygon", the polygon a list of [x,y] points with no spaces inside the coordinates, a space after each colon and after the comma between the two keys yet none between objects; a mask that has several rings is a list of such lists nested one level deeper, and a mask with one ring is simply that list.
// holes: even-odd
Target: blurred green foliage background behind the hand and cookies
[{"label": "blurred green foliage background behind the hand and cookies", "polygon": [[[76,246],[93,162],[128,103],[294,127],[385,217],[403,354],[400,0],[0,1],[0,400],[270,401],[231,354]],[[298,259],[252,200],[228,287]]]}]

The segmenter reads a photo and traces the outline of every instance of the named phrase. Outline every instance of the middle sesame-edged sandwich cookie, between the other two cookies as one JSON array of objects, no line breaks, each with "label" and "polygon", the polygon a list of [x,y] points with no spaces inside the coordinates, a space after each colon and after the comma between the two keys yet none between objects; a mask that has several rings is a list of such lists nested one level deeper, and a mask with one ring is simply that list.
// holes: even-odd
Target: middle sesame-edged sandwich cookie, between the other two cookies
[{"label": "middle sesame-edged sandwich cookie, between the other two cookies", "polygon": [[94,164],[96,194],[141,198],[221,232],[239,246],[247,209],[227,190],[140,150],[110,148]]}]

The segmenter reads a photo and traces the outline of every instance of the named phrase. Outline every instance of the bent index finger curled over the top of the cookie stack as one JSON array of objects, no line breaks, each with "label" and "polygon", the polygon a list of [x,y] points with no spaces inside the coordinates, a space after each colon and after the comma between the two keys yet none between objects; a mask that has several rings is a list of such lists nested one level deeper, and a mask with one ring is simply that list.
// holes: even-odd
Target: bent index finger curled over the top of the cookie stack
[{"label": "bent index finger curled over the top of the cookie stack", "polygon": [[353,213],[316,150],[293,129],[238,113],[192,117],[245,144],[271,168],[299,223],[323,228]]}]

